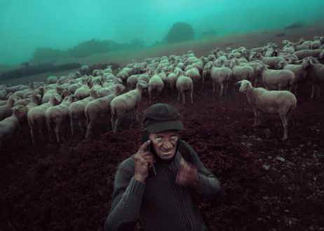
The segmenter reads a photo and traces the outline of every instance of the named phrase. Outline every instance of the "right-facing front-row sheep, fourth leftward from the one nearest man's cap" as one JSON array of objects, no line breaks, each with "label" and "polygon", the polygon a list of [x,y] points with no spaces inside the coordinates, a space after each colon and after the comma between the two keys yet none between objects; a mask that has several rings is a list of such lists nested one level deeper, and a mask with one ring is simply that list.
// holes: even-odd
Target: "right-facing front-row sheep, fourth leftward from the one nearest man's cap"
[{"label": "right-facing front-row sheep, fourth leftward from the one nearest man's cap", "polygon": [[74,102],[74,95],[70,94],[62,100],[62,103],[56,106],[50,106],[45,113],[46,125],[50,141],[52,141],[52,134],[50,124],[55,124],[56,141],[60,142],[60,127],[65,121],[69,121],[69,106]]}]

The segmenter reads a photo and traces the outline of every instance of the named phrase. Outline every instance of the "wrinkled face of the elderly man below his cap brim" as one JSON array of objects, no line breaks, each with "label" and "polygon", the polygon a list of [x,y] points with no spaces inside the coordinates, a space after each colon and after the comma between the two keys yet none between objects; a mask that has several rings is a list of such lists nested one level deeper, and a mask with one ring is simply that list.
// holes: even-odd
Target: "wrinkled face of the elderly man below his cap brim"
[{"label": "wrinkled face of the elderly man below his cap brim", "polygon": [[177,131],[163,131],[149,134],[151,144],[159,158],[170,160],[175,156],[179,133]]}]

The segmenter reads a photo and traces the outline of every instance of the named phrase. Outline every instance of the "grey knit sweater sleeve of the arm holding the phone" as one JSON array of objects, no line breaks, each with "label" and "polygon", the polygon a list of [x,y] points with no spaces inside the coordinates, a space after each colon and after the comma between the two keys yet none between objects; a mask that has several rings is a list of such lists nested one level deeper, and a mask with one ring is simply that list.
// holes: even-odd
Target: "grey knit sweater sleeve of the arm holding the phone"
[{"label": "grey knit sweater sleeve of the arm holding the phone", "polygon": [[140,214],[145,183],[134,178],[134,172],[119,166],[114,180],[112,207],[105,223],[105,230],[135,228]]}]

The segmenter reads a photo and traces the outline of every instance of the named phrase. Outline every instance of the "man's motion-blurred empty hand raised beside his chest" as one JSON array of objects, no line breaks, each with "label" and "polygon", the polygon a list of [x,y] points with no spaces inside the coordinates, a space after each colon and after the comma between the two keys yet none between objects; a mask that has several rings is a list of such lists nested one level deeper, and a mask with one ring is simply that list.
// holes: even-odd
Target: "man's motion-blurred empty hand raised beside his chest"
[{"label": "man's motion-blurred empty hand raised beside his chest", "polygon": [[180,186],[197,186],[198,170],[196,166],[191,165],[189,162],[181,158],[176,182],[180,184]]}]

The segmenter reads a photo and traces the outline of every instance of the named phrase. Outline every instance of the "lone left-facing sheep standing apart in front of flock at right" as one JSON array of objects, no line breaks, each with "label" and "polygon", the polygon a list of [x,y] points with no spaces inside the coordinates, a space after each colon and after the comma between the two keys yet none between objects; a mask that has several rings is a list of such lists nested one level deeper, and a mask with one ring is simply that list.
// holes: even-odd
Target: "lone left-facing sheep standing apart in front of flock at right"
[{"label": "lone left-facing sheep standing apart in front of flock at right", "polygon": [[266,90],[262,87],[252,87],[249,80],[241,80],[239,92],[248,97],[248,101],[253,108],[255,114],[255,122],[253,126],[259,125],[259,112],[279,113],[281,122],[283,123],[283,141],[288,139],[288,118],[297,106],[297,99],[294,94],[277,90]]}]

